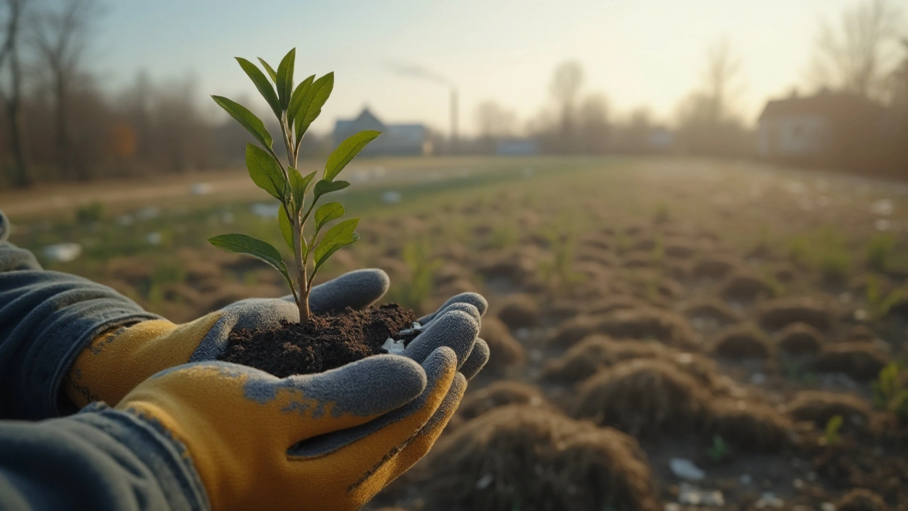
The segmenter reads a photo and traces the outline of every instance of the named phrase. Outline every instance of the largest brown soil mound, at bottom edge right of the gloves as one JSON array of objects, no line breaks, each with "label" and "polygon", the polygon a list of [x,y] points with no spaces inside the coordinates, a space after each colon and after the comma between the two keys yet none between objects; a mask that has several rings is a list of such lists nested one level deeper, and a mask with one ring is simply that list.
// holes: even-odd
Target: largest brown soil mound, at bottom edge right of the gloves
[{"label": "largest brown soil mound, at bottom edge right of the gloves", "polygon": [[479,416],[429,456],[426,509],[660,509],[636,440],[534,407]]}]

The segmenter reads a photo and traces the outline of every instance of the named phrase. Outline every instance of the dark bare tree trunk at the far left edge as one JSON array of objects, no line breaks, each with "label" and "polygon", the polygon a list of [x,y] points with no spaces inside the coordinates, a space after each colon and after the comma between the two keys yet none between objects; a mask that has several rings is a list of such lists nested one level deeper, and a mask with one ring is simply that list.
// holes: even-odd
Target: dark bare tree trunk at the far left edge
[{"label": "dark bare tree trunk at the far left edge", "polygon": [[6,23],[3,46],[0,48],[0,68],[9,70],[8,90],[0,91],[6,107],[6,121],[9,124],[9,145],[13,151],[13,185],[25,187],[32,184],[28,160],[25,156],[25,129],[22,113],[22,65],[19,60],[19,43],[22,40],[22,25],[25,9],[30,0],[6,0]]}]

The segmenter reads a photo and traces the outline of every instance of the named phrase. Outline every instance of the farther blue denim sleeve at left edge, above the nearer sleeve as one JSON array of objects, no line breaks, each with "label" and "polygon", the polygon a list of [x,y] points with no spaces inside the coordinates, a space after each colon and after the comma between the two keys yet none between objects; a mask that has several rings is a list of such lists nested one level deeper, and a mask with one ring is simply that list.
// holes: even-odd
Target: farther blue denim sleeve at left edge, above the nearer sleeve
[{"label": "farther blue denim sleeve at left edge, above the nearer sleeve", "polygon": [[74,413],[60,384],[79,351],[105,330],[160,316],[108,286],[43,270],[2,241],[5,224],[0,213],[0,419]]}]

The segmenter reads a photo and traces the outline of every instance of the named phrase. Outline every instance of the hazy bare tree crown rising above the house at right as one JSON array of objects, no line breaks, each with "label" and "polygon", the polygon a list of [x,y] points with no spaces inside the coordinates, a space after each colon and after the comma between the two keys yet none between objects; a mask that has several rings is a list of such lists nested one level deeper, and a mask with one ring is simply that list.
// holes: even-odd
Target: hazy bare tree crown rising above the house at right
[{"label": "hazy bare tree crown rising above the house at right", "polygon": [[839,25],[824,21],[811,63],[812,80],[816,85],[880,98],[900,28],[901,12],[889,0],[864,0],[844,11]]}]

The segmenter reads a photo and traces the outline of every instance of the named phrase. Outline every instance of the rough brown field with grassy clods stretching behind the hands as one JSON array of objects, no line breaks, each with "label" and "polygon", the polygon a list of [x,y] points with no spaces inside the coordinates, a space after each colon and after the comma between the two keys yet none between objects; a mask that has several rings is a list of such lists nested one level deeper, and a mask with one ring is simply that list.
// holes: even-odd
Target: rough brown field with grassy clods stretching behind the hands
[{"label": "rough brown field with grassy clods stretching behind the hands", "polygon": [[[370,509],[908,509],[908,186],[669,158],[361,165],[363,239],[321,277],[380,267],[418,312],[490,304],[489,366]],[[0,207],[48,268],[184,321],[287,293],[205,245],[279,236],[267,196],[220,178],[204,200],[192,177]],[[60,242],[81,255],[52,260]]]}]

